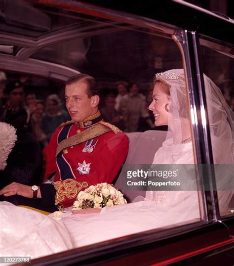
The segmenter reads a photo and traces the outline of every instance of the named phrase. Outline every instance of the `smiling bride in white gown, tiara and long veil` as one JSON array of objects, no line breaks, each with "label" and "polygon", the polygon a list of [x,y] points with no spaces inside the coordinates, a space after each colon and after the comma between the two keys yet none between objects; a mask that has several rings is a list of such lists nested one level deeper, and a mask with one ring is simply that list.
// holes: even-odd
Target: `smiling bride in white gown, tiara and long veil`
[{"label": "smiling bride in white gown, tiara and long veil", "polygon": [[[232,114],[220,90],[205,75],[204,81],[214,163],[233,164]],[[156,126],[168,125],[169,128],[166,140],[156,152],[154,164],[195,164],[183,69],[156,74],[149,109],[155,115]],[[227,210],[232,195],[231,191],[220,192],[221,210]],[[198,200],[197,191],[147,191],[144,200],[105,207],[100,214],[78,215],[68,211],[59,221],[53,219],[53,214],[45,216],[2,202],[0,256],[37,258],[145,230],[199,221]],[[16,233],[19,228],[20,234]],[[32,235],[34,245],[28,242]]]}]

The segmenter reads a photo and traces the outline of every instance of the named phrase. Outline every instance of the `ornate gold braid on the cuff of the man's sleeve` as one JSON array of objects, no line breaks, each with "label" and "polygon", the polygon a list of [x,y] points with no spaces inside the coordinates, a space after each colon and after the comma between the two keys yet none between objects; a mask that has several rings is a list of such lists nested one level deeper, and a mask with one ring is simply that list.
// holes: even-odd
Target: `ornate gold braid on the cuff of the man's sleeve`
[{"label": "ornate gold braid on the cuff of the man's sleeve", "polygon": [[78,182],[74,179],[68,178],[64,181],[53,182],[53,185],[57,190],[55,195],[55,205],[58,205],[66,198],[74,199],[75,197],[77,197],[79,191],[83,187],[87,187],[88,183],[85,181]]}]

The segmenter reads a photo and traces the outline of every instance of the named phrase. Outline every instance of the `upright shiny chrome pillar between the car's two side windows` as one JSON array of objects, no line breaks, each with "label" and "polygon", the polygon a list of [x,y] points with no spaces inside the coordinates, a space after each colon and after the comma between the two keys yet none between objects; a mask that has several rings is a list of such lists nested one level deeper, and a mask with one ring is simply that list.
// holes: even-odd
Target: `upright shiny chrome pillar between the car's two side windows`
[{"label": "upright shiny chrome pillar between the car's two side windows", "polygon": [[[195,32],[183,31],[181,35],[174,36],[174,39],[181,45],[185,69],[188,80],[189,100],[191,107],[192,129],[195,140],[195,154],[197,164],[206,164],[207,172],[203,173],[198,167],[199,186],[204,207],[204,221],[217,221],[219,218],[218,197],[215,180],[212,178],[213,157],[211,148],[208,114],[202,71],[200,70],[197,43],[198,38]],[[196,89],[197,88],[197,89]],[[205,179],[208,182],[205,182]],[[204,183],[209,184],[209,190],[204,190]],[[217,203],[217,204],[216,204]]]}]

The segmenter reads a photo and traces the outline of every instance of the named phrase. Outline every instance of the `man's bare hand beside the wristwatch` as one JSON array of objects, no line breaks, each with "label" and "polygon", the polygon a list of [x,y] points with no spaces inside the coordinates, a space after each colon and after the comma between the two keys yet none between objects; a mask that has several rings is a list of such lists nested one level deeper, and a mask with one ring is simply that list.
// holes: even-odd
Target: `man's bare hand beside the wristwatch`
[{"label": "man's bare hand beside the wristwatch", "polygon": [[[33,198],[33,191],[31,186],[23,185],[20,183],[13,182],[0,190],[0,195],[4,195],[5,197],[20,195],[26,198]],[[38,190],[38,198],[41,198],[40,188]]]}]

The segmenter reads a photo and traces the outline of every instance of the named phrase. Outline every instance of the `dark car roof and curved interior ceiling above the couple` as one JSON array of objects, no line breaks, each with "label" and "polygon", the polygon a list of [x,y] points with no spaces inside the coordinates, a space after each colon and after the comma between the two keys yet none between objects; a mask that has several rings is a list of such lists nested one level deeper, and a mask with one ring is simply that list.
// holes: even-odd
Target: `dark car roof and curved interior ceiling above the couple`
[{"label": "dark car roof and curved interior ceiling above the couple", "polygon": [[[75,64],[85,59],[88,38],[119,31],[123,26],[135,30],[137,24],[133,21],[142,20],[146,26],[159,23],[173,31],[195,31],[228,44],[233,44],[234,39],[233,20],[179,0],[156,4],[142,0],[124,4],[118,0],[8,0],[2,8],[0,64],[3,69],[18,69],[59,80],[79,73]],[[80,40],[77,50],[69,50],[75,39],[77,43]]]}]

